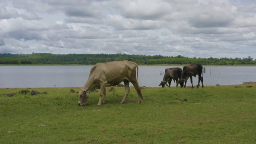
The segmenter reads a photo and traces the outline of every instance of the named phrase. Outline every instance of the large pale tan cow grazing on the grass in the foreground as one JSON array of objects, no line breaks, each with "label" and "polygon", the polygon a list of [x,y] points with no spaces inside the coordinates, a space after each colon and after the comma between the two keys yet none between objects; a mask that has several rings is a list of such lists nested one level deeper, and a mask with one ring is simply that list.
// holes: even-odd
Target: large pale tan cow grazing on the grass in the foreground
[{"label": "large pale tan cow grazing on the grass in the foreground", "polygon": [[78,93],[78,105],[83,106],[88,100],[91,91],[100,88],[100,100],[98,106],[101,106],[102,95],[104,95],[104,102],[106,104],[106,84],[119,84],[124,82],[125,95],[121,102],[123,104],[130,92],[129,82],[131,82],[138,94],[138,104],[141,103],[142,94],[140,86],[136,78],[136,68],[138,77],[138,65],[135,62],[128,60],[114,61],[106,63],[98,63],[90,70],[89,78],[83,88]]}]

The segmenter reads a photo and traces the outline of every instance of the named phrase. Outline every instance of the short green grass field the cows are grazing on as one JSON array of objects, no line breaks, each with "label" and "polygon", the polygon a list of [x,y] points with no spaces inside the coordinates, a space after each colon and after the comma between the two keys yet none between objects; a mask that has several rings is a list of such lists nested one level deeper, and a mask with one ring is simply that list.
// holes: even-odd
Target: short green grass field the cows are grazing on
[{"label": "short green grass field the cows are grazing on", "polygon": [[25,89],[0,89],[0,143],[256,143],[256,84],[246,85],[149,87],[141,104],[133,87],[120,104],[124,88],[115,87],[100,107],[98,92],[80,107],[71,88],[32,88],[48,94],[13,97],[3,94]]}]

